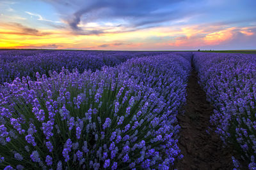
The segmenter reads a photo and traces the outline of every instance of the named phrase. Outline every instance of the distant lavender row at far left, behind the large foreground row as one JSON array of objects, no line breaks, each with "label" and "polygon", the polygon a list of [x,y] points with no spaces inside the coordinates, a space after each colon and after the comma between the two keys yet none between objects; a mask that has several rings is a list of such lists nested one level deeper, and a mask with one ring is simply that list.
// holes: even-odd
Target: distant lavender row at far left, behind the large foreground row
[{"label": "distant lavender row at far left, behind the large foreground row", "polygon": [[30,76],[36,72],[49,76],[49,71],[60,73],[64,66],[69,71],[95,71],[102,66],[116,66],[132,57],[156,55],[159,52],[65,51],[65,50],[0,50],[0,83]]}]

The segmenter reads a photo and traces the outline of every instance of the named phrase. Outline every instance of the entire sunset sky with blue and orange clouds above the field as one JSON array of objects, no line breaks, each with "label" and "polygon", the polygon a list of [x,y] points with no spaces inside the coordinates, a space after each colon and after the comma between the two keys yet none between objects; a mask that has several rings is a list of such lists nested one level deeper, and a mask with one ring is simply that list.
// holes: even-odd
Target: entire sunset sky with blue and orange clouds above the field
[{"label": "entire sunset sky with blue and orange clouds above the field", "polygon": [[0,48],[253,50],[255,0],[0,0]]}]

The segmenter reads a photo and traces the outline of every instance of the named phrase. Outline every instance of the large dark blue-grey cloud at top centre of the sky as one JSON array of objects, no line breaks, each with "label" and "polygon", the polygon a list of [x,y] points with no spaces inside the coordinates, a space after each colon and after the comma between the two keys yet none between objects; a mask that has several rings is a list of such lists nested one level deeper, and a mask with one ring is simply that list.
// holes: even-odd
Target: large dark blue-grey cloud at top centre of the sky
[{"label": "large dark blue-grey cloud at top centre of the sky", "polygon": [[[88,34],[84,32],[83,28],[79,27],[82,21],[83,23],[87,23],[95,20],[113,21],[115,19],[121,19],[127,22],[125,27],[132,30],[132,28],[140,29],[152,27],[152,25],[156,26],[156,24],[160,24],[161,22],[191,15],[190,10],[173,10],[174,8],[172,8],[188,0],[44,1],[51,3],[60,13],[67,14],[63,15],[62,19],[67,22],[75,34]],[[192,0],[192,3],[193,1],[195,0]],[[103,32],[100,32],[100,34]],[[96,34],[99,33],[96,32]]]}]

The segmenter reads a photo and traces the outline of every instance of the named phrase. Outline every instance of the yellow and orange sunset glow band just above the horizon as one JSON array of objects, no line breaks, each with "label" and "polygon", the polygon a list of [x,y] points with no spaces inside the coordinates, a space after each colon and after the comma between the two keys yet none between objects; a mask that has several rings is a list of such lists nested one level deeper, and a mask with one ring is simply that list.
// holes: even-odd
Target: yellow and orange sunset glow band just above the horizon
[{"label": "yellow and orange sunset glow band just above the horizon", "polygon": [[[153,27],[138,31],[105,32],[99,35],[72,34],[68,30],[44,30],[19,32],[19,28],[0,25],[0,48],[54,48],[54,49],[92,49],[92,50],[140,50],[162,48],[196,48],[197,46],[219,45],[234,37],[234,32],[252,36],[252,27],[229,27],[219,29],[216,26],[200,28],[188,25],[176,27]],[[47,32],[47,33],[45,33]],[[154,40],[156,38],[157,40]]]}]

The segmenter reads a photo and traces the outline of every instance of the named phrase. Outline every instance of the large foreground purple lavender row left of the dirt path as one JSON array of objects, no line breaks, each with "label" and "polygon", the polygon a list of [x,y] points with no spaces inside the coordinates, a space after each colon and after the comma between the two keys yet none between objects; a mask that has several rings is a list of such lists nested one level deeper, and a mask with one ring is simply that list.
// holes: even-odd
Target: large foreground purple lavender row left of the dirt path
[{"label": "large foreground purple lavender row left of the dirt path", "polygon": [[[172,167],[181,157],[176,116],[186,102],[191,53],[147,53],[94,72],[63,68],[4,83],[0,168]],[[8,148],[16,152],[12,164]]]}]

